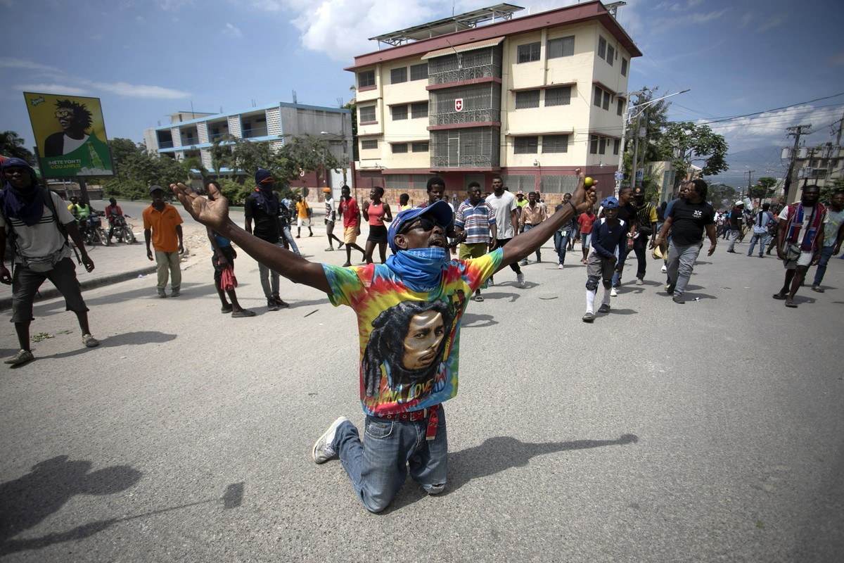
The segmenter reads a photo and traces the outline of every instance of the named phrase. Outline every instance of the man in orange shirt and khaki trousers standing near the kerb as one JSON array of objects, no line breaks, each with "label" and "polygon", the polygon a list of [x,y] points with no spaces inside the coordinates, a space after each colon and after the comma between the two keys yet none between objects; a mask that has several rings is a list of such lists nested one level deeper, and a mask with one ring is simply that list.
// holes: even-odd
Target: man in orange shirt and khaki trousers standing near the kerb
[{"label": "man in orange shirt and khaki trousers standing near the kerb", "polygon": [[158,271],[158,295],[167,296],[165,288],[169,271],[170,295],[178,297],[181,289],[179,255],[185,252],[181,241],[181,215],[175,207],[165,203],[164,190],[160,186],[150,186],[149,194],[153,203],[143,210],[143,240],[147,243],[147,257],[153,260],[153,251],[149,248],[149,241],[152,241]]}]

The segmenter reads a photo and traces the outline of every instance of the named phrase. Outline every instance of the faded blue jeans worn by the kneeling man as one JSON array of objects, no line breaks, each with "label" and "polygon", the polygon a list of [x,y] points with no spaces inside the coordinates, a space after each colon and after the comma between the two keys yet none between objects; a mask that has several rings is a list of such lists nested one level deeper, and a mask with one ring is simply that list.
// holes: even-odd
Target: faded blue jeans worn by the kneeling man
[{"label": "faded blue jeans worn by the kneeling man", "polygon": [[428,420],[385,420],[367,416],[365,443],[351,422],[337,428],[332,447],[354,486],[360,501],[370,512],[381,512],[390,504],[410,476],[429,495],[446,486],[448,436],[446,413],[440,405],[436,437],[425,440]]}]

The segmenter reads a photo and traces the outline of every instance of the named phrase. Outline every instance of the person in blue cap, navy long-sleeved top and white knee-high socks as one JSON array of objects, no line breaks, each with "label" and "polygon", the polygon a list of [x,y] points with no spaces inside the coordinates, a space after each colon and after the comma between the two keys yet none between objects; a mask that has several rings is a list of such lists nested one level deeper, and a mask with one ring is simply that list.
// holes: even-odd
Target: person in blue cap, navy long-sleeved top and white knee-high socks
[{"label": "person in blue cap, navy long-sleeved top and white knee-high socks", "polygon": [[[610,196],[601,202],[603,218],[592,225],[592,253],[586,261],[586,313],[583,322],[595,320],[595,295],[598,280],[603,284],[603,300],[599,313],[609,313],[609,298],[613,290],[613,275],[625,266],[627,257],[627,231],[629,225],[619,219],[619,200]],[[619,257],[615,257],[618,249]]]}]

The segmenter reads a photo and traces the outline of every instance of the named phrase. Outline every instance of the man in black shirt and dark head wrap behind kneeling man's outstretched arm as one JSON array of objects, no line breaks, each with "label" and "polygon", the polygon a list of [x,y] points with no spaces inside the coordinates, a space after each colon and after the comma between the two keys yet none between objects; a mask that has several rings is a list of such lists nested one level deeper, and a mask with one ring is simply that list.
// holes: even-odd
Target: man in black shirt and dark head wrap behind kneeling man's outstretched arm
[{"label": "man in black shirt and dark head wrap behind kneeling man's outstretched arm", "polygon": [[[274,183],[273,175],[268,170],[259,168],[255,171],[255,189],[243,203],[246,218],[244,229],[262,241],[281,246],[279,244],[279,194],[273,191]],[[255,230],[252,230],[253,220]],[[267,298],[267,310],[278,311],[279,308],[287,307],[288,304],[281,300],[279,295],[279,273],[258,261],[258,276],[261,278],[261,287]]]}]

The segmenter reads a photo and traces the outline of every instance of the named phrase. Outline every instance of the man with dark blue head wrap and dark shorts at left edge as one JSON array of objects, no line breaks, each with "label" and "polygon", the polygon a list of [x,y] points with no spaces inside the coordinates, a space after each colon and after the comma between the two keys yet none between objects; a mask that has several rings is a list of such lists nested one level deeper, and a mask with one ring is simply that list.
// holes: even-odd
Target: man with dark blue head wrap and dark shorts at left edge
[{"label": "man with dark blue head wrap and dark shorts at left edge", "polygon": [[[68,311],[76,313],[83,344],[94,348],[100,343],[91,336],[88,307],[70,258],[68,235],[86,271],[94,269],[94,261],[85,251],[73,215],[57,194],[38,185],[35,170],[25,160],[4,160],[0,170],[4,181],[0,191],[0,282],[12,285],[12,322],[20,344],[19,352],[5,363],[21,365],[34,358],[30,349],[32,303],[45,279],[62,293]],[[7,238],[13,251],[14,275],[3,263]]]}]

